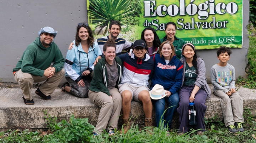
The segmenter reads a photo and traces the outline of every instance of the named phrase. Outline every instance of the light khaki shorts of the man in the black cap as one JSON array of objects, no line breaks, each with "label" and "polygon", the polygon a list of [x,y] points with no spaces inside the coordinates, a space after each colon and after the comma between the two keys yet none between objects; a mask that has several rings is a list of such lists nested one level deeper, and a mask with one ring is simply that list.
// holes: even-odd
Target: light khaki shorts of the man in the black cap
[{"label": "light khaki shorts of the man in the black cap", "polygon": [[[149,88],[146,86],[138,86],[136,84],[119,84],[118,85],[119,92],[122,95],[122,92],[125,90],[129,90],[132,93],[132,100],[139,101],[139,93],[140,91],[146,90],[149,91]],[[142,102],[140,102],[142,103]]]}]

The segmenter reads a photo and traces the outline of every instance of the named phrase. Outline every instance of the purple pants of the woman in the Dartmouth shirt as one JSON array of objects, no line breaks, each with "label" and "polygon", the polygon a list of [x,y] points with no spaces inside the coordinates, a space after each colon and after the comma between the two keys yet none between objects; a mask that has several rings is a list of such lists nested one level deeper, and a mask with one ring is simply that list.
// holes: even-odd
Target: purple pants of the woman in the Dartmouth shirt
[{"label": "purple pants of the woman in the Dartmouth shirt", "polygon": [[[189,120],[188,120],[188,108],[189,108],[189,98],[191,95],[191,92],[194,89],[193,86],[182,86],[179,92],[180,102],[179,107],[177,108],[177,112],[180,115],[180,132],[186,133],[189,130]],[[205,125],[204,125],[204,114],[206,111],[206,98],[207,93],[205,90],[200,88],[198,92],[195,95],[194,100],[194,108],[196,110],[196,116],[197,116],[197,125],[192,126],[195,130],[201,129],[200,131],[205,131]]]}]

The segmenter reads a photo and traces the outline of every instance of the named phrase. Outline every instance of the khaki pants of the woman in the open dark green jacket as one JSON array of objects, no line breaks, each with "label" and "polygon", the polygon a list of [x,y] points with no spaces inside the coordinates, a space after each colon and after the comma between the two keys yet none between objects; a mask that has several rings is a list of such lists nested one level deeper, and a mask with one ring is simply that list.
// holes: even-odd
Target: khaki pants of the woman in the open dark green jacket
[{"label": "khaki pants of the woman in the open dark green jacket", "polygon": [[122,96],[117,88],[110,90],[111,99],[106,93],[89,90],[89,99],[92,103],[101,107],[100,114],[94,132],[101,133],[104,129],[117,128],[119,115],[122,109]]}]

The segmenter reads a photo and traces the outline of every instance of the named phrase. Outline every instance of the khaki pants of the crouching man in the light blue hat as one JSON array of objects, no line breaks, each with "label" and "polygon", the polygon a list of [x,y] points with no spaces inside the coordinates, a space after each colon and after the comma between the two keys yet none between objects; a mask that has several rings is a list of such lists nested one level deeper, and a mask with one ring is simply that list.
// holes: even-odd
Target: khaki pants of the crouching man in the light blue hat
[{"label": "khaki pants of the crouching man in the light blue hat", "polygon": [[32,100],[31,88],[33,87],[33,83],[42,82],[46,80],[39,87],[39,89],[42,93],[44,93],[44,95],[49,96],[59,85],[64,75],[64,69],[60,70],[58,73],[54,73],[54,75],[51,78],[47,78],[46,76],[41,77],[29,73],[23,73],[20,69],[16,71],[16,73],[14,74],[14,79],[18,82],[24,98],[27,100]]}]

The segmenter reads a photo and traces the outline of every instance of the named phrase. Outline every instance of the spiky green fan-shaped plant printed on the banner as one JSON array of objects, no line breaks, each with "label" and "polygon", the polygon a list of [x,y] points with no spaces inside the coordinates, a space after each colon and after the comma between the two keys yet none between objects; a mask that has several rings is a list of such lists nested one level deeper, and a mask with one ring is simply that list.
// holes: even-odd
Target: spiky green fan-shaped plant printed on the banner
[{"label": "spiky green fan-shaped plant printed on the banner", "polygon": [[139,15],[141,9],[140,0],[90,0],[88,15],[93,23],[97,23],[96,27],[107,26],[105,35],[113,20],[124,25],[138,23],[135,17]]}]

